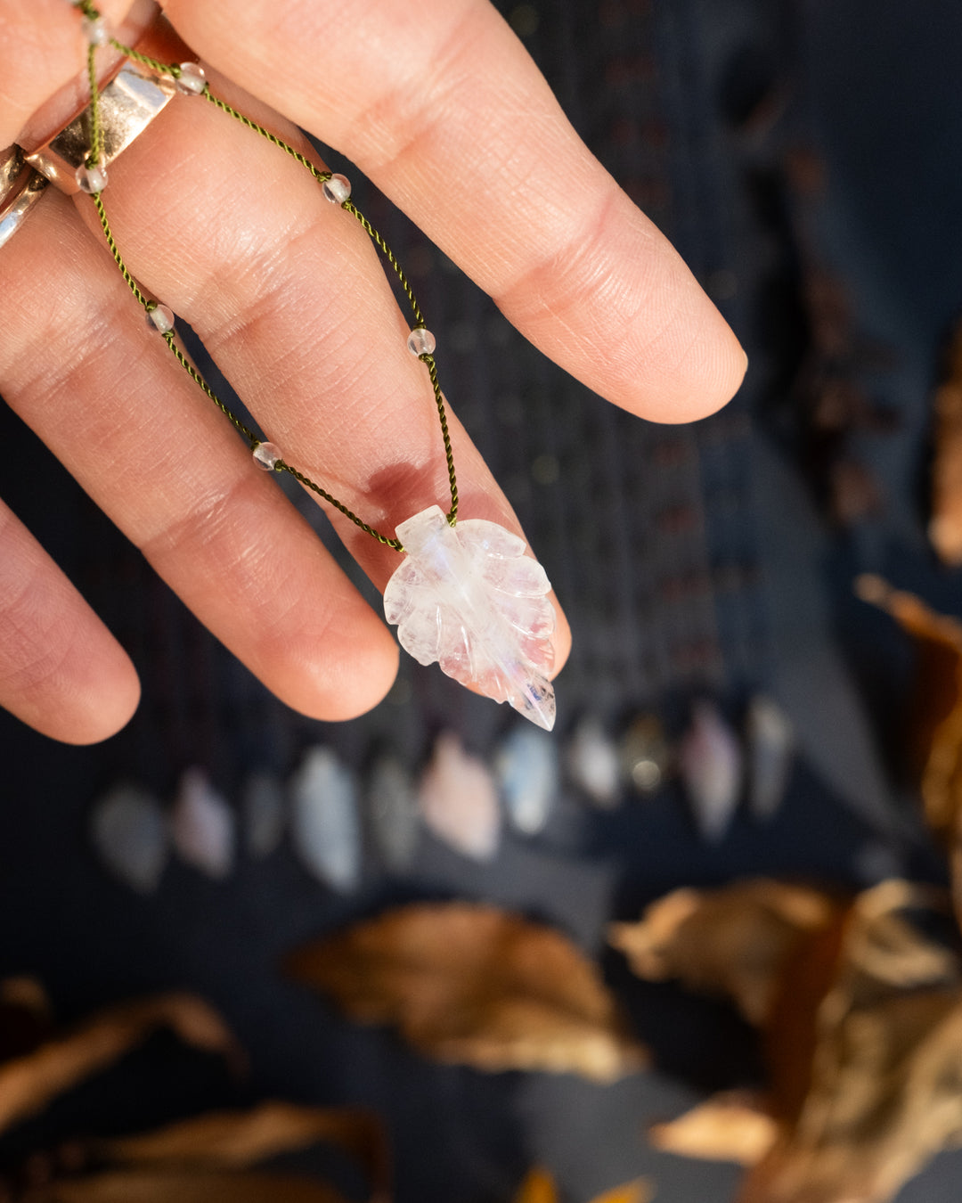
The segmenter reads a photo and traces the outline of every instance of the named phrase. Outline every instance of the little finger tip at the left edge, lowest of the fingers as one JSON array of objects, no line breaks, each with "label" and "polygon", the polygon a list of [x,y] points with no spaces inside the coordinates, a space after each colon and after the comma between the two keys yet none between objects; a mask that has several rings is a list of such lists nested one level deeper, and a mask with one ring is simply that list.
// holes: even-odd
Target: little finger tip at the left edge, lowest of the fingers
[{"label": "little finger tip at the left edge, lowest of the fingers", "polygon": [[124,650],[0,502],[0,706],[53,739],[94,743],[138,698]]}]

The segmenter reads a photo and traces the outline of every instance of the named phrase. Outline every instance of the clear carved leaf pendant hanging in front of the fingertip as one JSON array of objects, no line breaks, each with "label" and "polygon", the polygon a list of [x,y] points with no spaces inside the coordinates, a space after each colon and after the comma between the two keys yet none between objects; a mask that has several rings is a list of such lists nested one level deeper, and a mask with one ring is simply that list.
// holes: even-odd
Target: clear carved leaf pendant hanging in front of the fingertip
[{"label": "clear carved leaf pendant hanging in front of the fingertip", "polygon": [[485,518],[449,526],[437,505],[402,522],[397,535],[406,556],[387,582],[384,612],[404,651],[550,731],[554,606],[524,540]]}]

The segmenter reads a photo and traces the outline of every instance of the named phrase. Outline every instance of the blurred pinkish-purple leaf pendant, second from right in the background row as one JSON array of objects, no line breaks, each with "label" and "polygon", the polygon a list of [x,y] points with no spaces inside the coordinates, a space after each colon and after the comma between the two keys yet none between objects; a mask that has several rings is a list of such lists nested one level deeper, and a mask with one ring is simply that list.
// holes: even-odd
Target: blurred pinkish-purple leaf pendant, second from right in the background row
[{"label": "blurred pinkish-purple leaf pendant, second from right in the background row", "polygon": [[693,707],[677,760],[700,835],[713,843],[723,840],[738,806],[743,757],[714,703],[699,701]]}]

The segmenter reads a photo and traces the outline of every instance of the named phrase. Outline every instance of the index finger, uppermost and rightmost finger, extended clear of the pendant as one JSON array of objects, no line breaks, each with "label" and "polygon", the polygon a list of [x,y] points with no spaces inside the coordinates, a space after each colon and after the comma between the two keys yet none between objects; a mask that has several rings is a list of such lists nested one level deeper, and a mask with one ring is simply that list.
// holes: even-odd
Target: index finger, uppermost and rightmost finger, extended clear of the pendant
[{"label": "index finger, uppermost and rightmost finger, extended clear of the pendant", "polygon": [[657,421],[747,360],[487,0],[162,0],[206,59],[345,153],[545,354]]}]

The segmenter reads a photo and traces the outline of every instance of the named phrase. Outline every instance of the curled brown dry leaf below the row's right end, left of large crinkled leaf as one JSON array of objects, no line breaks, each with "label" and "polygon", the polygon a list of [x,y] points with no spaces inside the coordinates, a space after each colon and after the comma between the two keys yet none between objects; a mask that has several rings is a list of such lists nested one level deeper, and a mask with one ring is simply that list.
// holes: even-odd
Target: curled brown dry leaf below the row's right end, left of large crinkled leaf
[{"label": "curled brown dry leaf below the row's right end, left of large crinkled leaf", "polygon": [[681,889],[653,902],[639,923],[608,926],[635,973],[730,996],[764,1024],[779,973],[800,938],[827,928],[838,906],[819,890],[768,879],[719,890]]}]

